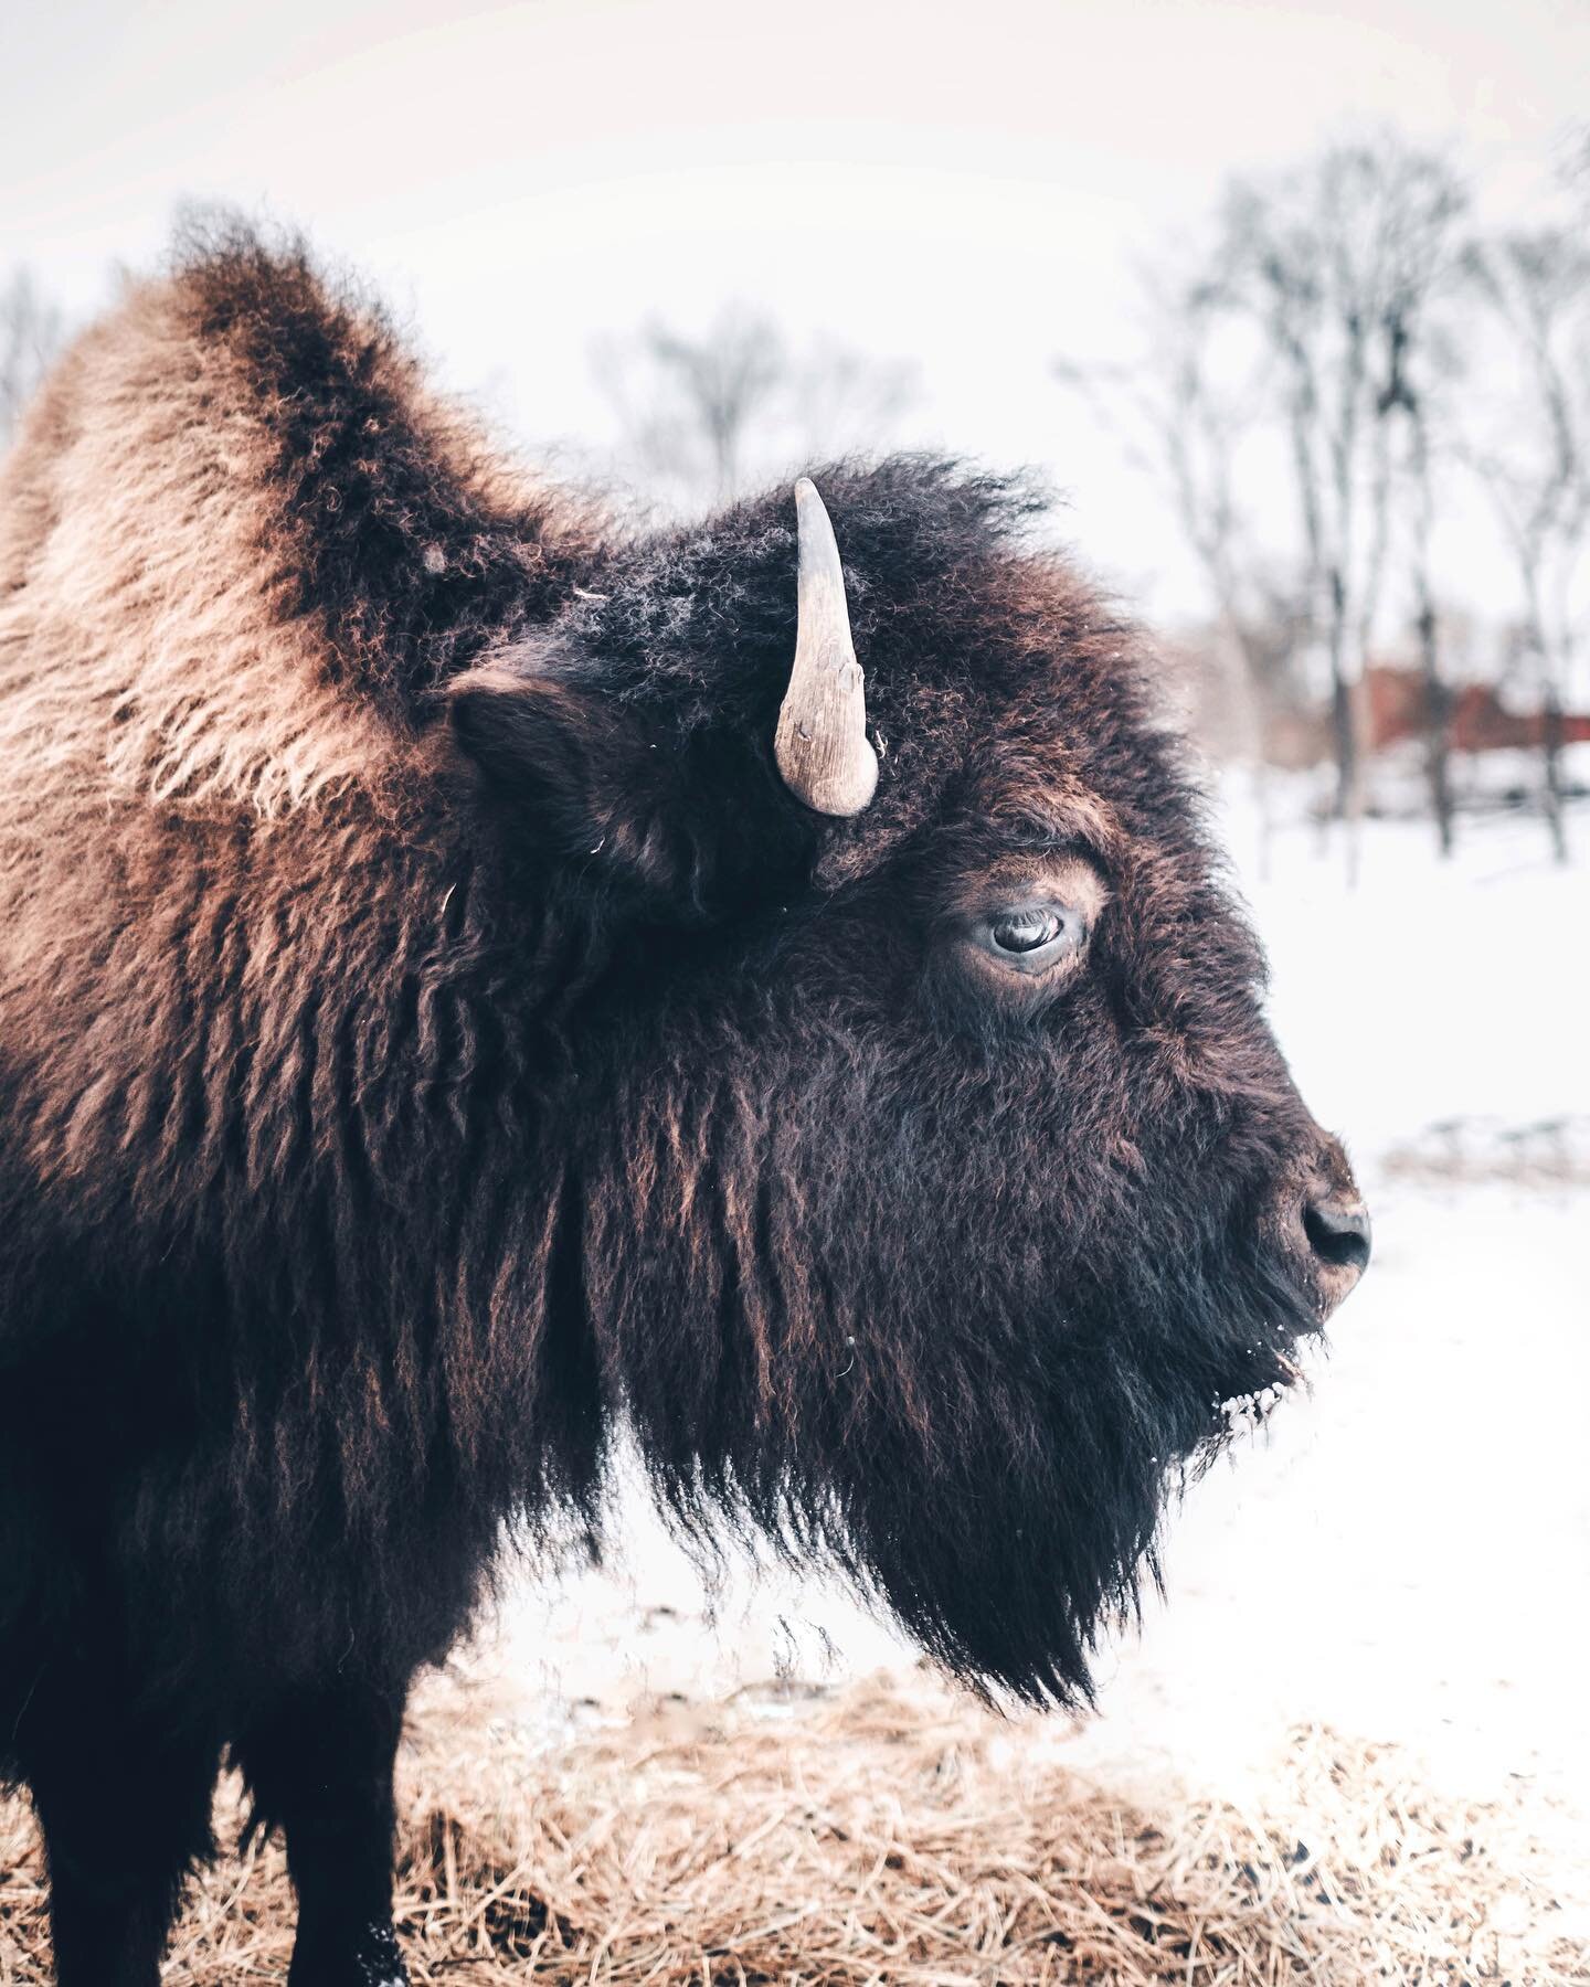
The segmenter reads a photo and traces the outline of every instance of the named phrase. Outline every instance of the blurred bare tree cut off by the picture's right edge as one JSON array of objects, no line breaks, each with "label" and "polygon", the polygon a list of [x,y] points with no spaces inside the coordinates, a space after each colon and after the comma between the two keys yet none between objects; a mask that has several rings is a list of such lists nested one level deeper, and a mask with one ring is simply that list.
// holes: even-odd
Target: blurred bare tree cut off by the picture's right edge
[{"label": "blurred bare tree cut off by the picture's right edge", "polygon": [[1566,862],[1562,711],[1590,538],[1590,248],[1570,227],[1507,234],[1475,244],[1467,270],[1501,336],[1465,453],[1518,576],[1520,636],[1540,693],[1542,807],[1552,852]]}]

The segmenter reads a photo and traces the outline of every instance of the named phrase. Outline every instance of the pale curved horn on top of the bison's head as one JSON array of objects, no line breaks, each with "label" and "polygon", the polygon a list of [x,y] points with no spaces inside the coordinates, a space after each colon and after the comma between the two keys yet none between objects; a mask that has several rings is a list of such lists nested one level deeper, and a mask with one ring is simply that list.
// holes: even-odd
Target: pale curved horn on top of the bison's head
[{"label": "pale curved horn on top of the bison's head", "polygon": [[801,536],[801,604],[795,668],[779,709],[773,753],[785,787],[819,815],[859,815],[878,785],[867,739],[867,693],[851,646],[845,574],[817,485],[795,485]]}]

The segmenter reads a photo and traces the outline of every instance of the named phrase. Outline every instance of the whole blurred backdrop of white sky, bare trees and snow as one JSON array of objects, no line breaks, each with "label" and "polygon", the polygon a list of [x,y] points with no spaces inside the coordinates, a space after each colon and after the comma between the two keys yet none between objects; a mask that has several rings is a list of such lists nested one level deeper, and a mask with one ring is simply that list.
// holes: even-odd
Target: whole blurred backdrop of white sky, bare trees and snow
[{"label": "whole blurred backdrop of white sky, bare trees and snow", "polygon": [[[2,32],[0,443],[225,203],[638,521],[845,451],[1049,481],[1157,634],[1377,1236],[1314,1395],[1192,1492],[1169,1609],[1055,1743],[1228,1788],[1330,1723],[1582,1814],[1590,8],[70,0]],[[910,1667],[839,1596],[618,1532],[509,1596],[505,1717]]]}]

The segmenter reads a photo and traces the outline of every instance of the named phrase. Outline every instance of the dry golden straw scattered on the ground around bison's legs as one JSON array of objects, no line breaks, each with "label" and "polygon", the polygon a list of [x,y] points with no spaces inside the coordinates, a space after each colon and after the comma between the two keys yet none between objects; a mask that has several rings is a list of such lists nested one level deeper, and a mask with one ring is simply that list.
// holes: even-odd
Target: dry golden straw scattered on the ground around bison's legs
[{"label": "dry golden straw scattered on the ground around bison's legs", "polygon": [[[1590,1981],[1564,1921],[1520,1808],[1437,1800],[1395,1749],[1314,1727],[1264,1814],[1123,1806],[926,1683],[666,1705],[555,1755],[437,1689],[407,1768],[415,1981],[1558,1987]],[[48,1979],[44,1945],[0,1806],[0,1983]],[[288,1945],[266,1848],[205,1880],[167,1981],[282,1979]]]}]

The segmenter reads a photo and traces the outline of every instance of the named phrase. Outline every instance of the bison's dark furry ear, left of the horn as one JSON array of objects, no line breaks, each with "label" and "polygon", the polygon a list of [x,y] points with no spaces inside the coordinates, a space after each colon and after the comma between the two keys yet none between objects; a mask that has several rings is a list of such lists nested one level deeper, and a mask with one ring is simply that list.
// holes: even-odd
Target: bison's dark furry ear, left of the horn
[{"label": "bison's dark furry ear, left of the horn", "polygon": [[[698,920],[733,870],[729,821],[747,801],[706,745],[558,676],[485,664],[447,693],[451,729],[505,833],[582,866],[654,916]],[[733,795],[733,785],[741,787]],[[755,841],[755,837],[751,837]]]}]

